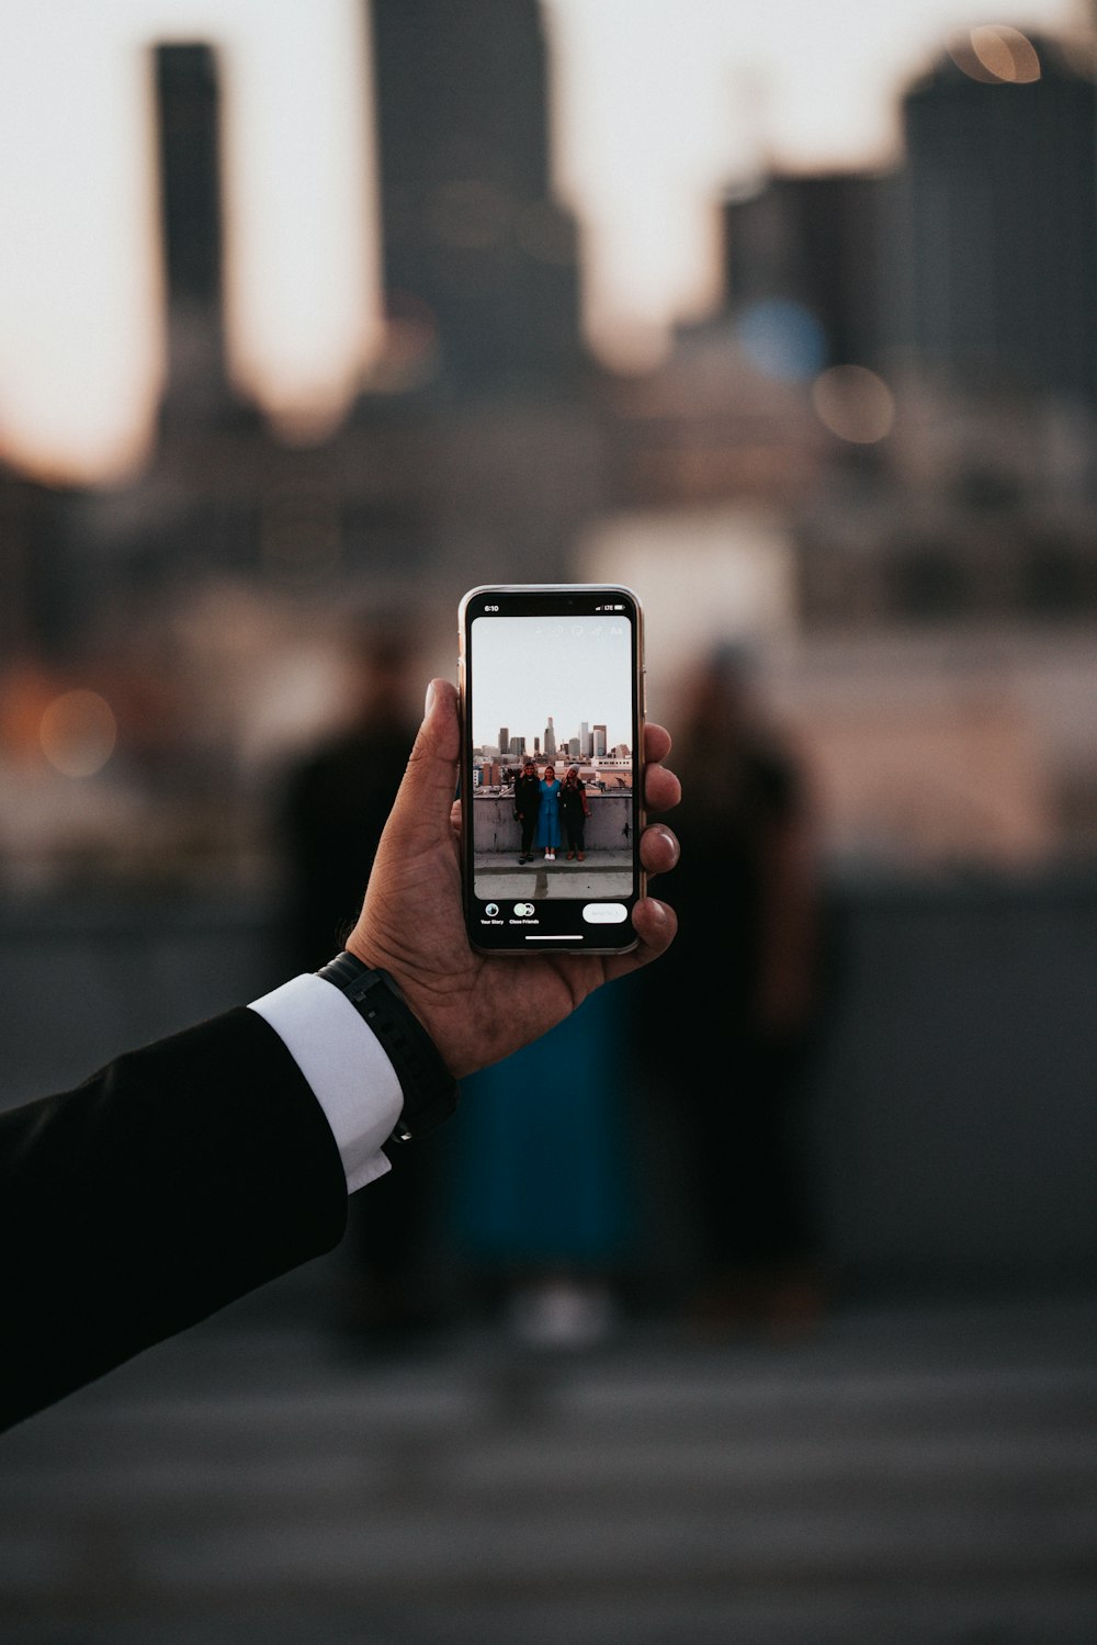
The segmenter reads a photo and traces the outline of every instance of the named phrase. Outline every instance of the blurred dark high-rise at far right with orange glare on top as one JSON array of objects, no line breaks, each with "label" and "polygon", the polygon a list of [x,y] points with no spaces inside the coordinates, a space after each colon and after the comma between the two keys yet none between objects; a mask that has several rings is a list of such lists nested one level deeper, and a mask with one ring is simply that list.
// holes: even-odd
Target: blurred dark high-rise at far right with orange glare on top
[{"label": "blurred dark high-rise at far right with orange glare on top", "polygon": [[1092,403],[1097,87],[1049,39],[984,56],[946,54],[903,100],[898,341],[965,387]]}]

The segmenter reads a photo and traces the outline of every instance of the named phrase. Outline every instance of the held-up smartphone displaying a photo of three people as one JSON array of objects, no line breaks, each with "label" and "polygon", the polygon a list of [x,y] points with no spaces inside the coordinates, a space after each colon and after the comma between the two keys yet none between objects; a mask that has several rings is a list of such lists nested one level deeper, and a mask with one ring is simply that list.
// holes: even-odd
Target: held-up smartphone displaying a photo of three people
[{"label": "held-up smartphone displaying a photo of three people", "polygon": [[643,628],[632,589],[461,602],[462,849],[484,952],[622,952],[643,895]]}]

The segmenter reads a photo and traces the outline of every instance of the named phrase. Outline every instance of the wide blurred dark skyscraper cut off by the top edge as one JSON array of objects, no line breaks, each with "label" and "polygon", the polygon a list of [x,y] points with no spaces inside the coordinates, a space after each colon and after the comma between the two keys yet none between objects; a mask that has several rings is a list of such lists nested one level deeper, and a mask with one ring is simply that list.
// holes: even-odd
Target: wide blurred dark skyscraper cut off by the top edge
[{"label": "wide blurred dark skyscraper cut off by the top edge", "polygon": [[549,184],[538,0],[372,0],[383,283],[451,395],[549,392],[581,357],[576,230]]}]

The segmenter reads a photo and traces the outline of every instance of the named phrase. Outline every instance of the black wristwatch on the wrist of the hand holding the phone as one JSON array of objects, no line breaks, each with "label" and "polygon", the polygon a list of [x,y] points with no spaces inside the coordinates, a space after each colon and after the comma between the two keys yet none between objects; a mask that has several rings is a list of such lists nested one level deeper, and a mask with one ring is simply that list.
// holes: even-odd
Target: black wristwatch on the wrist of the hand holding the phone
[{"label": "black wristwatch on the wrist of the hand holding the phone", "polygon": [[442,1054],[386,971],[336,954],[316,972],[350,1000],[396,1069],[403,1109],[388,1142],[416,1142],[457,1107],[459,1087]]}]

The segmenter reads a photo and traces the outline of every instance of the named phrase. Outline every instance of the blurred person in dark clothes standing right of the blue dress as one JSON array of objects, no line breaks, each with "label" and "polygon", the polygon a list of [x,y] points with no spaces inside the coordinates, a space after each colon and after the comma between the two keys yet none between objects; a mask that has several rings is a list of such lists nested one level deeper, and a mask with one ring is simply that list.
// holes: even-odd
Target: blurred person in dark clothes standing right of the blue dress
[{"label": "blurred person in dark clothes standing right of the blue dress", "polygon": [[814,804],[742,648],[692,666],[668,719],[686,790],[681,934],[632,1000],[640,1023],[674,1025],[651,1048],[650,1079],[684,1150],[699,1265],[687,1313],[704,1328],[793,1332],[826,1300],[801,1128],[822,1005]]}]

